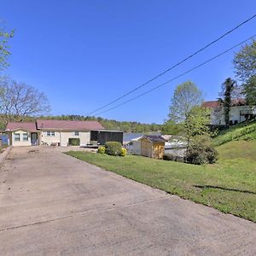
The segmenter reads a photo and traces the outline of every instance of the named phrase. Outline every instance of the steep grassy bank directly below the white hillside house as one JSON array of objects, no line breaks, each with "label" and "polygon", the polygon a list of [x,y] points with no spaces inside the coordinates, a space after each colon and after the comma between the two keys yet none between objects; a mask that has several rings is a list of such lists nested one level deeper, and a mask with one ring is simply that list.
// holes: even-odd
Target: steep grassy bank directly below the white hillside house
[{"label": "steep grassy bank directly below the white hillside house", "polygon": [[213,145],[219,146],[234,140],[256,140],[256,120],[250,123],[241,123],[230,127],[225,131],[220,131],[218,136],[213,139]]}]

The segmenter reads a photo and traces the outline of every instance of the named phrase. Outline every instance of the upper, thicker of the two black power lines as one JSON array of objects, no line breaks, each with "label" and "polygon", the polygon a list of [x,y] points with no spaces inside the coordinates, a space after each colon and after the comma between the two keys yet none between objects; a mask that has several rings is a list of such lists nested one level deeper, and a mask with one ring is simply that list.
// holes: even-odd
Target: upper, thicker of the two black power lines
[{"label": "upper, thicker of the two black power lines", "polygon": [[87,116],[90,115],[91,113],[96,113],[97,111],[101,110],[102,108],[108,107],[109,105],[113,104],[114,102],[118,102],[120,99],[124,98],[125,96],[130,95],[130,94],[133,93],[134,91],[143,88],[145,85],[151,83],[151,82],[154,81],[155,79],[160,78],[160,77],[163,76],[165,73],[167,73],[167,72],[171,71],[173,68],[175,68],[175,67],[181,65],[183,62],[188,61],[190,58],[192,58],[192,57],[194,57],[195,55],[199,54],[199,53],[200,53],[201,51],[203,51],[204,49],[207,49],[207,48],[208,48],[209,46],[211,46],[212,44],[217,43],[220,39],[222,39],[222,38],[224,38],[225,36],[229,35],[231,32],[234,32],[234,31],[235,31],[236,29],[238,29],[240,26],[243,26],[243,25],[246,24],[248,21],[253,20],[253,18],[255,18],[255,17],[256,17],[256,14],[253,15],[252,17],[248,18],[247,20],[244,20],[243,22],[241,22],[240,24],[238,24],[237,26],[235,26],[234,28],[232,28],[230,31],[225,32],[222,36],[216,38],[215,40],[213,40],[211,43],[207,44],[207,45],[204,46],[203,48],[196,50],[195,53],[189,55],[188,57],[186,57],[185,59],[183,59],[183,61],[177,62],[177,64],[173,65],[172,67],[169,67],[169,68],[166,69],[164,72],[162,72],[162,73],[158,74],[157,76],[155,76],[153,79],[149,79],[147,82],[145,82],[145,83],[143,83],[143,84],[137,86],[137,87],[136,87],[135,89],[133,89],[133,90],[130,90],[130,91],[126,92],[124,95],[119,96],[118,98],[116,98],[116,99],[113,100],[112,102],[109,102],[109,103],[103,105],[102,107],[97,108],[97,109],[94,110],[94,111],[91,111],[90,113],[87,114]]}]

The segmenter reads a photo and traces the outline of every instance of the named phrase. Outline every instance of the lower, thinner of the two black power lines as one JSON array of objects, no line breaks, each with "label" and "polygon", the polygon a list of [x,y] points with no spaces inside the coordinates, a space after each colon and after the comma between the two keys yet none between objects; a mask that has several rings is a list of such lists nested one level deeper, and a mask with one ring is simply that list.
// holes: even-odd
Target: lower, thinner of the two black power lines
[{"label": "lower, thinner of the two black power lines", "polygon": [[138,95],[138,96],[135,96],[135,97],[131,98],[130,100],[126,101],[126,102],[122,102],[122,103],[120,103],[120,104],[114,106],[113,108],[108,108],[107,110],[104,110],[104,111],[102,111],[102,112],[100,112],[100,113],[97,113],[96,115],[99,115],[99,114],[102,114],[102,113],[106,113],[106,112],[108,112],[108,111],[110,111],[110,110],[113,110],[114,108],[119,108],[120,106],[125,105],[125,104],[128,103],[128,102],[134,101],[134,100],[136,100],[137,98],[139,98],[139,97],[141,97],[141,96],[144,96],[144,95],[150,93],[151,91],[157,90],[157,89],[159,89],[160,87],[162,87],[162,86],[164,86],[164,85],[166,85],[166,84],[169,84],[169,83],[172,82],[173,80],[179,79],[179,78],[182,77],[183,75],[185,75],[185,74],[187,74],[187,73],[190,73],[190,72],[194,71],[195,69],[206,65],[208,62],[217,59],[217,58],[220,57],[221,55],[226,54],[226,53],[229,52],[230,50],[235,49],[236,47],[240,46],[241,44],[246,43],[248,40],[253,39],[254,37],[256,37],[256,35],[253,35],[252,37],[247,38],[246,40],[243,40],[241,43],[232,46],[230,49],[226,49],[226,50],[224,50],[222,53],[220,53],[220,54],[218,54],[218,55],[215,55],[215,56],[212,57],[211,59],[209,59],[209,60],[207,60],[207,61],[204,61],[204,62],[202,62],[201,64],[199,64],[199,65],[197,65],[197,66],[195,66],[195,67],[190,68],[189,70],[185,71],[184,73],[181,73],[181,74],[177,75],[177,77],[175,77],[175,78],[173,78],[173,79],[170,79],[170,80],[166,81],[166,82],[163,83],[163,84],[159,84],[159,85],[155,86],[154,88],[152,88],[152,89],[150,89],[150,90],[147,90],[147,91],[143,92],[142,94],[140,94],[140,95]]}]

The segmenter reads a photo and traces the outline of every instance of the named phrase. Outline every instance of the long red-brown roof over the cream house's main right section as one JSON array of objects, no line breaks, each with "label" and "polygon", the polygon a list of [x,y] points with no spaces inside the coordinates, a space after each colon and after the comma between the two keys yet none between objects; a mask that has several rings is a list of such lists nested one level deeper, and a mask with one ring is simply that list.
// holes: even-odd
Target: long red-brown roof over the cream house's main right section
[{"label": "long red-brown roof over the cream house's main right section", "polygon": [[103,130],[104,127],[97,121],[69,121],[69,120],[37,120],[38,130]]}]

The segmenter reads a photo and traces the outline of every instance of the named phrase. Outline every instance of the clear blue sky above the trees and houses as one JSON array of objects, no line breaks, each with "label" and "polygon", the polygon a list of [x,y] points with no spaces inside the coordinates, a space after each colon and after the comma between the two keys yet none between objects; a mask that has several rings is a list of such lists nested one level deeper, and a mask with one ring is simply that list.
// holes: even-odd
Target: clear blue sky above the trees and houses
[{"label": "clear blue sky above the trees and houses", "polygon": [[[16,30],[5,72],[44,91],[51,114],[86,115],[172,67],[255,10],[254,0],[1,1],[2,26]],[[253,36],[255,28],[256,19],[137,94]],[[231,51],[102,117],[162,123],[173,90],[188,79],[206,100],[214,100],[224,79],[234,77],[233,56]]]}]

